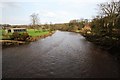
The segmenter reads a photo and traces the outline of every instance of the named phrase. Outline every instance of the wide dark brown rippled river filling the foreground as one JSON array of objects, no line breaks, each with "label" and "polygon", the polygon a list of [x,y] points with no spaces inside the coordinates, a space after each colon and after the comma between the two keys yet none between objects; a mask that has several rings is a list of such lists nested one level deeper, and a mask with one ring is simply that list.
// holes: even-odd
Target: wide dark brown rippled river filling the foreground
[{"label": "wide dark brown rippled river filling the foreground", "polygon": [[2,50],[3,78],[118,78],[119,63],[72,32]]}]

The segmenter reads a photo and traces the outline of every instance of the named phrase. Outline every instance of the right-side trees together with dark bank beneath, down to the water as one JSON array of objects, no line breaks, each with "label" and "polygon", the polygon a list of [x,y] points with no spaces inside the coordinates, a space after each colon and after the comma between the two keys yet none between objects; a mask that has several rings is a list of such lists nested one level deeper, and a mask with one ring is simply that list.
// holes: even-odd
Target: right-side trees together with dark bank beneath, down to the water
[{"label": "right-side trees together with dark bank beneath, down to the water", "polygon": [[120,1],[99,4],[99,12],[90,22],[91,34],[82,34],[120,59]]}]

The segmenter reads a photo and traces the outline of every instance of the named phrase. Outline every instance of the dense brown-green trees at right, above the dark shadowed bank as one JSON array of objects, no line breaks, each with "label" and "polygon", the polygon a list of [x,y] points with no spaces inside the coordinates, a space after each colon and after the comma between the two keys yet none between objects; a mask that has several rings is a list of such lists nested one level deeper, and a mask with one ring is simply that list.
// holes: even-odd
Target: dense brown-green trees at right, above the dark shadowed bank
[{"label": "dense brown-green trees at right, above the dark shadowed bank", "polygon": [[120,33],[120,1],[101,3],[98,7],[100,14],[91,22],[92,31],[106,35]]}]

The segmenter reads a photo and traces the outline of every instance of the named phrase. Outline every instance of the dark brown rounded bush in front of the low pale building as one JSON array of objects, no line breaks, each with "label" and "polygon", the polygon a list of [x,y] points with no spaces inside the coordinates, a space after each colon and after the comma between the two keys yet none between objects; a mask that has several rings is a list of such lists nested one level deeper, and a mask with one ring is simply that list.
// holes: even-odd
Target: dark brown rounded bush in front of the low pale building
[{"label": "dark brown rounded bush in front of the low pale building", "polygon": [[14,32],[10,37],[13,40],[26,41],[30,36],[28,35],[28,33],[17,33],[17,32]]}]

